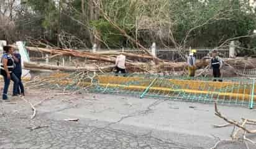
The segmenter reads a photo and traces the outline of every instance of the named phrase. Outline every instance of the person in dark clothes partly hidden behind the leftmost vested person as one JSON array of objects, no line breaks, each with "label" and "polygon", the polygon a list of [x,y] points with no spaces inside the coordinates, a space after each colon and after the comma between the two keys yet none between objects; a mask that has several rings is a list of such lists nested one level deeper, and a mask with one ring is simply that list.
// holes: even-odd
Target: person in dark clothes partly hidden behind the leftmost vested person
[{"label": "person in dark clothes partly hidden behind the leftmost vested person", "polygon": [[[21,54],[14,53],[12,57],[13,57],[14,63],[15,63],[13,73],[19,79],[19,85],[18,85],[19,87],[18,87],[17,93],[19,95],[25,96],[24,85],[23,85],[22,80],[21,80],[21,75],[22,75]],[[15,91],[13,90],[13,94],[14,94],[14,92]]]}]

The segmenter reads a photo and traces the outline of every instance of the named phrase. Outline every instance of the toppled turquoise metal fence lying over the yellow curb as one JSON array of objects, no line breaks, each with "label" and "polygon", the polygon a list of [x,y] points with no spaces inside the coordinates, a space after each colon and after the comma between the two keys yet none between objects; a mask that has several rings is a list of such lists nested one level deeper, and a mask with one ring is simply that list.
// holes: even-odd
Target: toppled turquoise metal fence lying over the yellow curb
[{"label": "toppled turquoise metal fence lying over the yellow curb", "polygon": [[[41,80],[44,82],[39,83]],[[224,79],[213,82],[210,79],[185,79],[160,77],[157,75],[115,76],[111,74],[55,74],[38,82],[37,85],[89,90],[96,93],[128,94],[138,98],[152,97],[201,103],[221,103],[249,106],[254,108],[255,81],[245,79]]]}]

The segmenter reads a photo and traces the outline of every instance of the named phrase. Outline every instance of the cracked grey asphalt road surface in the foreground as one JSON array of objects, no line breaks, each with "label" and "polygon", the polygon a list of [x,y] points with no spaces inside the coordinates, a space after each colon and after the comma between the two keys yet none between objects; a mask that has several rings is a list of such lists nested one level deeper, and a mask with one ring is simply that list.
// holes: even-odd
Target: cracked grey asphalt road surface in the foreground
[{"label": "cracked grey asphalt road surface in the foreground", "polygon": [[[228,139],[232,127],[214,116],[213,104],[186,103],[126,95],[58,95],[58,90],[30,90],[25,96],[36,106],[12,99],[0,103],[0,149],[11,148],[211,148],[217,136]],[[190,108],[193,107],[193,108]],[[219,106],[233,119],[255,119],[256,111]],[[64,119],[79,119],[78,122]],[[31,127],[48,126],[30,130]],[[254,135],[250,136],[255,139]],[[249,145],[250,148],[255,148]],[[221,143],[216,149],[246,148],[244,143]]]}]

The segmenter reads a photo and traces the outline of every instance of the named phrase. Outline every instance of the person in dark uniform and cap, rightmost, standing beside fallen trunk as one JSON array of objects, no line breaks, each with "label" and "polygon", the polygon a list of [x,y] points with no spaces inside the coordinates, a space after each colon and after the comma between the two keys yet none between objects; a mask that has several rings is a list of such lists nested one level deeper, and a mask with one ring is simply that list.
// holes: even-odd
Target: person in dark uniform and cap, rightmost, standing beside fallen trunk
[{"label": "person in dark uniform and cap, rightmost, standing beside fallen trunk", "polygon": [[[213,50],[211,61],[209,62],[209,69],[213,69],[213,77],[216,81],[216,78],[221,77],[221,67],[223,65],[223,62],[219,56],[217,56],[216,50]],[[222,82],[221,79],[219,79],[219,82]]]}]

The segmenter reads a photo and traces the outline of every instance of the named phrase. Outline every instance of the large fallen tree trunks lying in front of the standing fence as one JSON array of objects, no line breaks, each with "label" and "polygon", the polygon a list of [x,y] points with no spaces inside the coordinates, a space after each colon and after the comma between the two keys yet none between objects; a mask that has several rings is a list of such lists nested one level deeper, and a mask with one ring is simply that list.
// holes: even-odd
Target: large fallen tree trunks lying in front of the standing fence
[{"label": "large fallen tree trunks lying in front of the standing fence", "polygon": [[[37,47],[26,47],[29,51],[34,51],[38,53],[48,53],[52,56],[73,56],[80,57],[85,59],[96,60],[99,64],[107,62],[109,66],[85,66],[85,67],[71,67],[71,66],[52,66],[48,64],[37,64],[37,63],[26,63],[26,69],[44,69],[44,70],[63,70],[63,71],[74,71],[74,70],[89,70],[89,71],[98,71],[98,70],[106,70],[109,72],[114,67],[116,62],[116,55],[121,54],[120,52],[101,52],[101,53],[90,53],[85,51],[78,51],[73,49],[53,49],[53,48],[37,48]],[[122,53],[127,56],[126,67],[128,72],[163,72],[163,71],[183,71],[186,69],[186,62],[161,62],[159,64],[155,64],[151,62],[153,57],[148,54],[133,54],[133,53]],[[205,68],[209,65],[209,59],[211,57],[205,57],[202,60],[196,61],[197,69]],[[138,62],[140,59],[144,59],[144,62]],[[224,64],[232,68],[232,70],[236,69],[254,69],[255,66],[250,62],[247,62],[246,59],[223,59]]]}]

